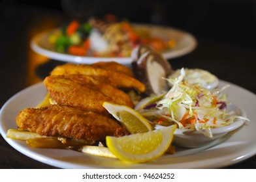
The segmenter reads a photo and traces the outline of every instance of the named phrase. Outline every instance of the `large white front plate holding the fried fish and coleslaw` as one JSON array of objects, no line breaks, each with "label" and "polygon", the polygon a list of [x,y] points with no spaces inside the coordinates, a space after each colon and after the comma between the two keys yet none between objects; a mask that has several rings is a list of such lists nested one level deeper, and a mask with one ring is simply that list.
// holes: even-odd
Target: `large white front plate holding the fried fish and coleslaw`
[{"label": "large white front plate holding the fried fish and coleslaw", "polygon": [[226,90],[229,101],[246,111],[251,122],[246,122],[235,132],[212,146],[196,149],[177,148],[174,155],[164,155],[144,164],[129,164],[118,159],[95,157],[69,149],[29,148],[24,141],[6,138],[8,129],[16,128],[15,118],[20,110],[35,107],[46,94],[42,83],[18,92],[3,105],[0,113],[0,132],[3,138],[24,155],[59,168],[221,168],[244,161],[256,153],[256,96],[240,86],[230,84]]}]

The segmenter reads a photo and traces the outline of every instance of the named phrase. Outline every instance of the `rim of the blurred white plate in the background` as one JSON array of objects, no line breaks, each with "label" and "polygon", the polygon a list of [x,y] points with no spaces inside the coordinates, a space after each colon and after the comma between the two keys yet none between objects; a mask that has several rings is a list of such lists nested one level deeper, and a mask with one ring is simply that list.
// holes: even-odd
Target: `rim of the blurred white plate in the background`
[{"label": "rim of the blurred white plate in the background", "polygon": [[[157,28],[157,29],[165,29],[168,31],[174,31],[179,34],[183,34],[191,41],[191,44],[189,46],[185,47],[184,49],[177,49],[177,50],[174,49],[174,51],[168,51],[166,53],[163,53],[163,57],[165,57],[165,59],[174,59],[177,57],[182,57],[184,55],[187,55],[188,53],[191,53],[197,47],[197,39],[195,38],[195,36],[193,36],[191,33],[187,32],[187,31],[177,29],[174,27],[168,27],[165,25],[154,25],[154,24],[147,24],[147,23],[131,23],[131,24],[135,25],[135,26],[142,26],[142,27],[147,27],[147,28],[153,27],[153,28]],[[36,36],[34,36],[30,42],[31,49],[33,51],[35,51],[35,53],[39,53],[40,55],[46,56],[50,59],[59,60],[62,62],[72,62],[72,63],[77,63],[77,64],[92,64],[92,63],[99,62],[99,61],[104,61],[104,62],[116,61],[120,64],[126,65],[126,64],[131,64],[131,62],[133,61],[131,59],[131,57],[123,57],[123,58],[80,57],[80,56],[75,56],[75,55],[69,55],[66,53],[57,53],[56,51],[51,51],[49,49],[41,47],[38,44],[38,42],[39,42],[40,38],[42,38],[42,36],[46,36],[46,34],[48,34],[49,32],[57,30],[57,29],[59,29],[59,28],[50,29],[48,31],[43,31],[43,32],[40,32],[39,34],[37,34]]]}]

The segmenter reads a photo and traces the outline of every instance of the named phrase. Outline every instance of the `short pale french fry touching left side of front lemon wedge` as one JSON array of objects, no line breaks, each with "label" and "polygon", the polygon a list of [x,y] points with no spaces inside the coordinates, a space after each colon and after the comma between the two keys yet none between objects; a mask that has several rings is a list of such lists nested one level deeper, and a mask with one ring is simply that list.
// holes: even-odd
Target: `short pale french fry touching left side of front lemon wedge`
[{"label": "short pale french fry touching left side of front lemon wedge", "polygon": [[117,158],[108,148],[102,146],[82,146],[78,151],[101,157]]}]

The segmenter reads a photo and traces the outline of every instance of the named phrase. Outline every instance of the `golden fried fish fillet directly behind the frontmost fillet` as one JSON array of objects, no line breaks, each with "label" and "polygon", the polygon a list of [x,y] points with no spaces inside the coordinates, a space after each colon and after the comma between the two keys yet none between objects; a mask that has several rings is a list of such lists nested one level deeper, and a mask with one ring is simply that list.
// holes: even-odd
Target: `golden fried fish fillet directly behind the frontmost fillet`
[{"label": "golden fried fish fillet directly behind the frontmost fillet", "polygon": [[49,76],[44,79],[44,86],[58,105],[68,105],[108,114],[108,111],[103,107],[103,102],[114,102],[101,92],[91,90],[70,79]]}]

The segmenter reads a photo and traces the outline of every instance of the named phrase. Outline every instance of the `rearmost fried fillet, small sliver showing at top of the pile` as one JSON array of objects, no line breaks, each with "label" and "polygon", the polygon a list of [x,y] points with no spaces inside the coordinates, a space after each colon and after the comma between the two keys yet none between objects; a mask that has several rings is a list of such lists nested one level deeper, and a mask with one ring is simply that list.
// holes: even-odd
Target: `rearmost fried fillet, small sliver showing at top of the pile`
[{"label": "rearmost fried fillet, small sliver showing at top of the pile", "polygon": [[105,70],[110,70],[113,72],[121,72],[125,73],[126,75],[129,75],[130,77],[134,77],[133,70],[131,68],[128,68],[127,66],[124,66],[123,64],[119,64],[118,62],[96,62],[94,64],[91,64],[91,66],[97,67],[97,68],[103,68]]}]

